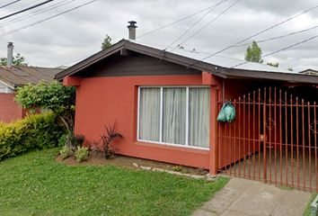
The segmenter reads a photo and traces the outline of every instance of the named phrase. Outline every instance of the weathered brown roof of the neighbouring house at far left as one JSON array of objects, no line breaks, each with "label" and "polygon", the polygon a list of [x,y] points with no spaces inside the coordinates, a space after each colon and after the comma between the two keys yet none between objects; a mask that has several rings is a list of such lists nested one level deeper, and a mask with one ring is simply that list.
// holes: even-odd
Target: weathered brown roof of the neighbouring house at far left
[{"label": "weathered brown roof of the neighbouring house at far left", "polygon": [[19,85],[50,82],[63,69],[49,67],[0,66],[0,81],[14,88]]}]

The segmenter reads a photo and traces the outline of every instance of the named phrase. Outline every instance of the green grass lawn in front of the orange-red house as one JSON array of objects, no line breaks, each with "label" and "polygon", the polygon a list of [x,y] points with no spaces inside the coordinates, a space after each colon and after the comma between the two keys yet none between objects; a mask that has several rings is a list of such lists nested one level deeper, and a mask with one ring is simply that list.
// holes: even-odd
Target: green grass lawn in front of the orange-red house
[{"label": "green grass lawn in front of the orange-red house", "polygon": [[0,162],[0,215],[190,215],[216,182],[117,166],[66,166],[57,149]]}]

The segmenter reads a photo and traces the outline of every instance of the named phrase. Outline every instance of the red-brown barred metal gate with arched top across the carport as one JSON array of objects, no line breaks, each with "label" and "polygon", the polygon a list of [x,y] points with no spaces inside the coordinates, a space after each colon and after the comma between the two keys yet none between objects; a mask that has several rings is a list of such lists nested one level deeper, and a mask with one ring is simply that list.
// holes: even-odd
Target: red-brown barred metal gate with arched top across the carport
[{"label": "red-brown barred metal gate with arched top across the carport", "polygon": [[235,121],[217,123],[218,170],[318,192],[316,103],[271,87],[232,103]]}]

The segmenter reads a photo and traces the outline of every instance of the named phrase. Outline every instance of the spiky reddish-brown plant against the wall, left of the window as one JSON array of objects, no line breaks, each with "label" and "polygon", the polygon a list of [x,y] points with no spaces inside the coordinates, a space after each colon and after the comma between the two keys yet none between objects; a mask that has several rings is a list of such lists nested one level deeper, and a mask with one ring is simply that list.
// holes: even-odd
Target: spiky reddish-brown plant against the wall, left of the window
[{"label": "spiky reddish-brown plant against the wall, left of the window", "polygon": [[102,155],[109,159],[115,154],[116,148],[113,146],[113,141],[115,139],[123,138],[123,136],[116,132],[115,124],[112,126],[104,126],[106,133],[102,134],[101,140],[93,143],[94,148],[102,152]]}]

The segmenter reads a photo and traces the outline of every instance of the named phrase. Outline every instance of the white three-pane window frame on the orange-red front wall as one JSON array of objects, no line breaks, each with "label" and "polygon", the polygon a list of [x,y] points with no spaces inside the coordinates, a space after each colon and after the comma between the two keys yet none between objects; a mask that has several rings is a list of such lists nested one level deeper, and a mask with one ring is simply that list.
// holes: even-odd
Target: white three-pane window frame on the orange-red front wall
[{"label": "white three-pane window frame on the orange-red front wall", "polygon": [[[186,138],[185,138],[185,144],[175,144],[175,143],[169,143],[169,142],[163,142],[163,88],[186,88]],[[139,126],[140,126],[140,89],[141,88],[159,88],[160,89],[160,127],[159,127],[159,141],[154,140],[146,140],[146,139],[139,139]],[[209,150],[210,148],[204,148],[204,147],[196,147],[196,146],[190,146],[189,145],[189,89],[190,88],[208,88],[210,89],[210,85],[140,85],[137,87],[137,141],[141,142],[149,142],[149,143],[155,143],[155,144],[161,144],[161,145],[167,145],[167,146],[173,146],[173,147],[181,147],[181,148],[196,148],[196,149],[202,149],[202,150]],[[210,95],[211,96],[211,95]],[[210,106],[211,111],[211,106]],[[209,113],[210,113],[209,111]],[[209,118],[210,116],[208,116]],[[209,130],[211,122],[209,122]],[[208,138],[208,143],[210,143],[210,138]]]}]

